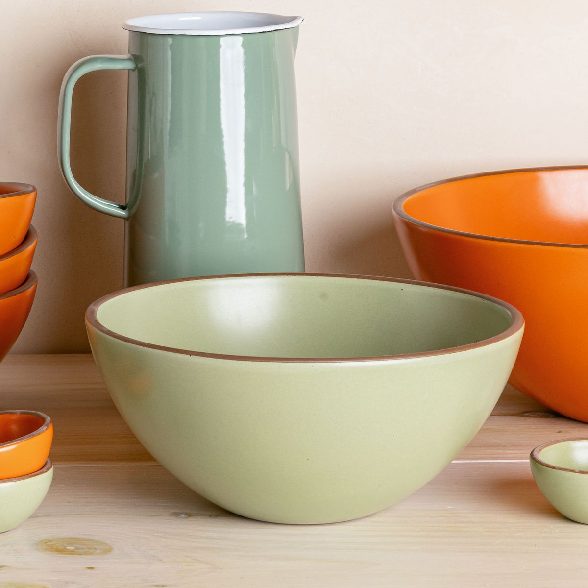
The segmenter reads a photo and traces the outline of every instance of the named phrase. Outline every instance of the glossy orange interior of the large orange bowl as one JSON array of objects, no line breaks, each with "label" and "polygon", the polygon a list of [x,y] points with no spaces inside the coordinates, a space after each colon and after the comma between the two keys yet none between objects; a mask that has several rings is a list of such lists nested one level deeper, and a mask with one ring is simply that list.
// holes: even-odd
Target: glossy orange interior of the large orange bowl
[{"label": "glossy orange interior of the large orange bowl", "polygon": [[504,239],[588,244],[588,168],[494,173],[437,183],[404,211],[445,229]]}]

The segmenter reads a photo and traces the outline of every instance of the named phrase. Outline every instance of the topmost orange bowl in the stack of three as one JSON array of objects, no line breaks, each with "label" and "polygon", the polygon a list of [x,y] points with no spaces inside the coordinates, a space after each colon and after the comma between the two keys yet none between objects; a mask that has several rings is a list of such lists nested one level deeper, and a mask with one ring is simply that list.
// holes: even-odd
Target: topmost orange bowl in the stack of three
[{"label": "topmost orange bowl in the stack of three", "polygon": [[36,188],[30,184],[0,182],[0,255],[24,240],[35,210]]}]

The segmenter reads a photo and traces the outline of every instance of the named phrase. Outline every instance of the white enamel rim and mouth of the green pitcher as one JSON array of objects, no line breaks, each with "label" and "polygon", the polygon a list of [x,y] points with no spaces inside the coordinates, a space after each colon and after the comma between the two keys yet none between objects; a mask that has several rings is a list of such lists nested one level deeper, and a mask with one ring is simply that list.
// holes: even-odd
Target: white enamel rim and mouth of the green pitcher
[{"label": "white enamel rim and mouth of the green pitcher", "polygon": [[302,16],[265,12],[176,12],[131,18],[122,28],[153,35],[242,35],[293,29],[301,22]]}]

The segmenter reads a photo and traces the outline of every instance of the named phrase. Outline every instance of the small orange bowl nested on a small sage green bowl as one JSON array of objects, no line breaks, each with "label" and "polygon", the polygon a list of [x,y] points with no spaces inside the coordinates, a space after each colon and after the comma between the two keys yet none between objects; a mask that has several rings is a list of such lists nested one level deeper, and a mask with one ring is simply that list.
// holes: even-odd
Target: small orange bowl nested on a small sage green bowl
[{"label": "small orange bowl nested on a small sage green bowl", "polygon": [[52,441],[53,423],[42,412],[0,410],[0,479],[38,472]]}]

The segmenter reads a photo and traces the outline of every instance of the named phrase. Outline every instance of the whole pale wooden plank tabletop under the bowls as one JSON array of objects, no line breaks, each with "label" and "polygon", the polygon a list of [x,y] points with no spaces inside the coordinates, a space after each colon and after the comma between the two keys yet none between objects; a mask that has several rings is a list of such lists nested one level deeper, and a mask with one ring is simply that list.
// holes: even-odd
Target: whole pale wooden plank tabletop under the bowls
[{"label": "whole pale wooden plank tabletop under the bowls", "polygon": [[510,387],[419,492],[318,526],[243,519],[178,482],[126,427],[91,356],[9,356],[0,389],[2,408],[42,410],[56,429],[49,495],[0,535],[0,588],[586,586],[588,527],[550,507],[526,461],[507,460],[587,425]]}]

